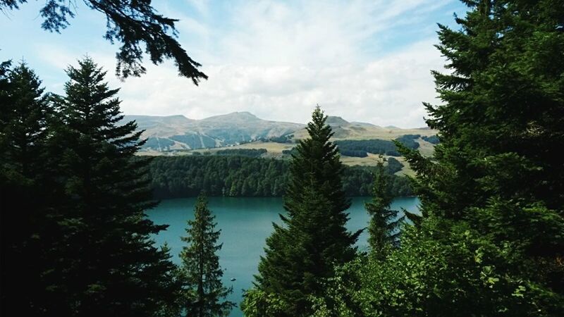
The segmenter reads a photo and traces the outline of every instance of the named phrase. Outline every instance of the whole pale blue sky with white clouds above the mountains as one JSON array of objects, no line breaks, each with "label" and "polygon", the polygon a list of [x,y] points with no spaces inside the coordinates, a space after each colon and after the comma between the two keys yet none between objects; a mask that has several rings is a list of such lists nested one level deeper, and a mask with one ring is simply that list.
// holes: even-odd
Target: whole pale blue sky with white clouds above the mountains
[{"label": "whole pale blue sky with white clouds above the mountains", "polygon": [[431,70],[444,71],[436,23],[457,28],[458,0],[153,1],[179,19],[178,41],[202,64],[199,86],[172,61],[125,81],[114,75],[118,43],[103,39],[106,20],[76,1],[61,34],[41,29],[30,0],[0,13],[0,61],[25,62],[47,91],[63,94],[65,69],[90,56],[121,87],[125,114],[202,119],[249,111],[267,120],[306,123],[316,104],[330,116],[400,128],[423,127],[422,102],[438,104]]}]

